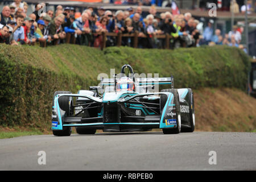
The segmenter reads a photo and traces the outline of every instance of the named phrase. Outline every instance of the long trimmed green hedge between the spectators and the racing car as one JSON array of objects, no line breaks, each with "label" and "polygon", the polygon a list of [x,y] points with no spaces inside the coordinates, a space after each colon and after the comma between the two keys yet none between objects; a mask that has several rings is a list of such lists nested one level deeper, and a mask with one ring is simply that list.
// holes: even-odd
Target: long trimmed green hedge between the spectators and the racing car
[{"label": "long trimmed green hedge between the spectators and the racing car", "polygon": [[175,78],[175,87],[245,89],[249,57],[238,48],[134,49],[63,44],[47,48],[0,45],[0,126],[51,127],[56,90],[77,93],[97,85],[99,73],[118,73],[130,64],[137,73]]}]

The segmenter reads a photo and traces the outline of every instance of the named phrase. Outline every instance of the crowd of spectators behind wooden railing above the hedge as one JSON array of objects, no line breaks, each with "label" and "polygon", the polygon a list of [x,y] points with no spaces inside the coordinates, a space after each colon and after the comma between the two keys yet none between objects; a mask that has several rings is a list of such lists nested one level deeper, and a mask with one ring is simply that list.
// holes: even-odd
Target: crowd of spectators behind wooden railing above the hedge
[{"label": "crowd of spectators behind wooden railing above the hedge", "polygon": [[[73,7],[56,7],[47,9],[46,4],[38,3],[35,11],[27,14],[28,5],[15,0],[4,6],[0,17],[0,43],[10,45],[46,43],[48,46],[65,43],[67,34],[76,38],[76,44],[102,48],[115,46],[117,37],[107,36],[102,32],[138,34],[139,48],[164,48],[166,39],[156,35],[170,35],[170,47],[198,47],[200,45],[228,45],[241,47],[242,28],[234,26],[229,34],[213,30],[213,20],[207,27],[192,17],[191,13],[171,14],[169,11],[158,14],[154,5],[145,14],[142,7],[128,8],[125,11],[94,9],[88,7],[82,12]],[[45,12],[43,10],[46,10]],[[122,37],[121,45],[132,47],[133,36]]]}]

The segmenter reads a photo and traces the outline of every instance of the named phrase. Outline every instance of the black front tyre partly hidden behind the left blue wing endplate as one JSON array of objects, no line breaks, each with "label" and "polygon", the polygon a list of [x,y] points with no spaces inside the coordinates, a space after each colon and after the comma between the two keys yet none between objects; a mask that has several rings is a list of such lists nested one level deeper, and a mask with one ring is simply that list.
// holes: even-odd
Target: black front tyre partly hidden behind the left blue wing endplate
[{"label": "black front tyre partly hidden behind the left blue wing endplate", "polygon": [[[53,102],[54,102],[54,98],[57,94],[72,94],[72,92],[69,91],[56,91],[53,94]],[[59,100],[59,106],[60,109],[64,110],[67,115],[72,114],[72,110],[71,110],[71,105],[69,105],[69,97],[60,97]],[[54,103],[53,103],[54,105]],[[72,133],[72,127],[69,126],[63,126],[63,130],[52,130],[53,135],[58,136],[58,137],[64,137],[64,136],[70,136]]]}]

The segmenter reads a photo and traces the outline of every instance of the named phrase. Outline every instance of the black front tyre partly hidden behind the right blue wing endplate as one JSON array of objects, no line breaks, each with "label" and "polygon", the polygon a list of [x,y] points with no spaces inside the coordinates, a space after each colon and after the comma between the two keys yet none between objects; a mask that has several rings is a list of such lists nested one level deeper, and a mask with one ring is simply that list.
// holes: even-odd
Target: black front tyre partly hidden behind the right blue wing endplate
[{"label": "black front tyre partly hidden behind the right blue wing endplate", "polygon": [[[180,133],[181,130],[181,115],[180,115],[180,98],[179,98],[179,93],[177,92],[177,89],[163,89],[161,92],[171,92],[174,94],[174,104],[176,107],[176,123],[177,127],[175,128],[170,128],[170,129],[163,129],[164,134],[178,134]],[[161,113],[163,111],[164,105],[167,102],[168,97],[166,95],[161,95],[160,96],[160,109]]]}]

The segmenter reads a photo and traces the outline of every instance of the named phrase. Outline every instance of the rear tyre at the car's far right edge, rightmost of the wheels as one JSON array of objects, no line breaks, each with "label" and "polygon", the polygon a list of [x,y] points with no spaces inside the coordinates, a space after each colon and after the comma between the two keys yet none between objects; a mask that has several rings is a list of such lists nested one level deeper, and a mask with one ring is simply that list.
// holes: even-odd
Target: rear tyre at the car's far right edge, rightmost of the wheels
[{"label": "rear tyre at the car's far right edge, rightmost of the wheels", "polygon": [[193,132],[195,130],[195,106],[192,89],[188,89],[188,105],[191,127],[182,128],[181,132]]}]

